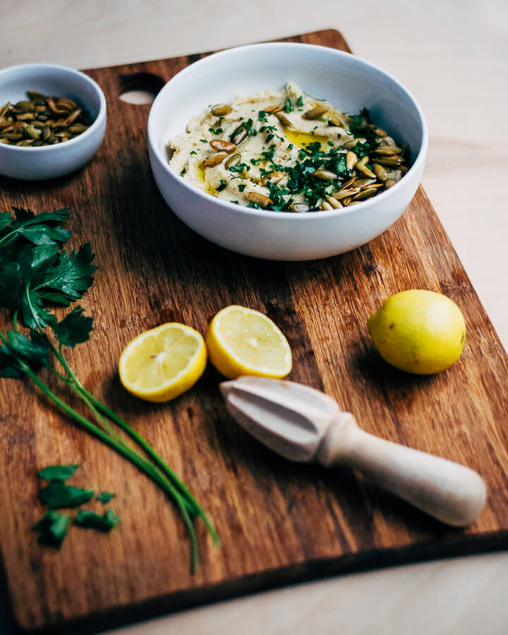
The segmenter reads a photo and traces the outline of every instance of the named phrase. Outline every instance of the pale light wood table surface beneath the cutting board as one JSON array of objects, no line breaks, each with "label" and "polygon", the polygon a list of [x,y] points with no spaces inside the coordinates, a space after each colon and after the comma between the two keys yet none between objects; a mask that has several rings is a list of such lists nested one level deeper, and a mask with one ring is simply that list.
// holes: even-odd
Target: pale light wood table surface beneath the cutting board
[{"label": "pale light wood table surface beneath the cutting board", "polygon": [[[355,54],[392,73],[423,107],[430,129],[423,186],[507,348],[506,0],[1,0],[0,6],[0,68],[32,61],[109,66],[341,30]],[[495,552],[299,584],[115,632],[504,635],[507,591],[508,552]],[[0,607],[1,635],[9,631],[3,615]]]}]

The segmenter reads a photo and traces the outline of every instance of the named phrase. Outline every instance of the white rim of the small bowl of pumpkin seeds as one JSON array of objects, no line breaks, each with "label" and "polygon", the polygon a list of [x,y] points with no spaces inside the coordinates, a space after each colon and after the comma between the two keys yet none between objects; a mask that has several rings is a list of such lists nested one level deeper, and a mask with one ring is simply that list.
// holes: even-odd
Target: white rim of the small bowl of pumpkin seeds
[{"label": "white rim of the small bowl of pumpkin seeds", "polygon": [[[26,64],[15,64],[14,66],[6,66],[6,68],[0,69],[0,83],[2,81],[2,75],[4,73],[13,73],[14,71],[20,71],[21,69],[32,69],[33,71],[37,70],[56,70],[63,71],[69,73],[70,75],[74,75],[78,77],[84,83],[90,85],[93,90],[95,90],[96,95],[99,97],[99,112],[95,117],[92,125],[83,133],[74,137],[73,139],[69,139],[66,143],[56,143],[54,145],[40,145],[36,147],[26,147],[22,145],[8,145],[6,143],[0,143],[0,150],[13,152],[28,152],[29,154],[33,154],[35,152],[61,152],[64,147],[73,147],[76,143],[83,143],[83,139],[92,135],[99,126],[102,126],[102,122],[106,118],[107,112],[107,102],[106,97],[104,96],[104,92],[102,88],[97,84],[95,80],[93,80],[90,75],[83,73],[82,71],[78,71],[77,68],[72,68],[72,66],[63,66],[62,64],[52,64],[47,62],[34,62],[34,63],[26,63]],[[3,105],[3,104],[2,104]]]}]

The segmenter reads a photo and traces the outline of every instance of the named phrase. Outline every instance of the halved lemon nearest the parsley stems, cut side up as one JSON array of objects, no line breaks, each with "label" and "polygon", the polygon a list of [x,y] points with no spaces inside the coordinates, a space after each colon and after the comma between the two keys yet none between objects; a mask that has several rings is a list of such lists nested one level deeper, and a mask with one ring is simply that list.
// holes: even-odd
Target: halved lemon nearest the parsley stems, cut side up
[{"label": "halved lemon nearest the parsley stems, cut side up", "polygon": [[136,397],[169,401],[198,381],[206,360],[202,335],[186,325],[168,322],[127,344],[119,361],[120,380]]}]

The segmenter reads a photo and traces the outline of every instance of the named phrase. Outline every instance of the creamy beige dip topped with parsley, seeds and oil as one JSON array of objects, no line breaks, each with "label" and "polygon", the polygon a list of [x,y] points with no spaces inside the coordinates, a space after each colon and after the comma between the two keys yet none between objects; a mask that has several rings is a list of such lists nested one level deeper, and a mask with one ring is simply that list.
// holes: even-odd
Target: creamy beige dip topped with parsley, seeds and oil
[{"label": "creamy beige dip topped with parsley, seeds and oil", "polygon": [[169,164],[196,188],[247,207],[310,212],[354,205],[406,174],[406,148],[291,83],[210,104],[167,145]]}]

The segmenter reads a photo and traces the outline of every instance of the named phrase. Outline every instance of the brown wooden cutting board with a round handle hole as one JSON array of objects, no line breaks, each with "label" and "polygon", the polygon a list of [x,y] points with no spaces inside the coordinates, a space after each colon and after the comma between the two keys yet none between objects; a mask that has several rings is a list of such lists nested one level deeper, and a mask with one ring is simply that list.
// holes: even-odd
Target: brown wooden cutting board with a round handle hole
[{"label": "brown wooden cutting board with a round handle hole", "polygon": [[[290,40],[349,50],[332,30]],[[223,547],[199,524],[201,565],[192,575],[181,521],[150,480],[27,383],[0,380],[0,545],[13,611],[26,629],[93,631],[313,576],[508,546],[507,356],[423,189],[380,238],[336,258],[266,262],[208,243],[157,191],[147,159],[150,106],[119,99],[126,83],[165,83],[199,57],[89,71],[109,109],[96,157],[51,182],[1,179],[0,209],[74,210],[72,240],[92,242],[100,269],[81,302],[95,331],[71,363],[190,485]],[[464,353],[432,377],[390,368],[366,328],[388,296],[411,288],[446,294],[466,317]],[[488,501],[478,521],[447,528],[351,471],[280,459],[228,416],[213,368],[168,404],[122,389],[116,364],[136,334],[173,320],[205,332],[232,303],[282,328],[294,351],[291,380],[325,390],[371,433],[479,471]],[[60,552],[37,545],[36,472],[56,463],[82,464],[76,485],[117,493],[118,530],[75,529]]]}]

